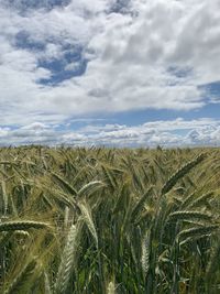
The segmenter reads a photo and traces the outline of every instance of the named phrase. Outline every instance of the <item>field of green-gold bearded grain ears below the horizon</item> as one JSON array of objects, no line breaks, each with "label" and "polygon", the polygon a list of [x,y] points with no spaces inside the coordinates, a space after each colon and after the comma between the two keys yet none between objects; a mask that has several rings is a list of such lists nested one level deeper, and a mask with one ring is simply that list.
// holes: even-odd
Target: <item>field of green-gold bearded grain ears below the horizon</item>
[{"label": "field of green-gold bearded grain ears below the horizon", "polygon": [[219,228],[219,149],[0,149],[1,294],[220,293]]}]

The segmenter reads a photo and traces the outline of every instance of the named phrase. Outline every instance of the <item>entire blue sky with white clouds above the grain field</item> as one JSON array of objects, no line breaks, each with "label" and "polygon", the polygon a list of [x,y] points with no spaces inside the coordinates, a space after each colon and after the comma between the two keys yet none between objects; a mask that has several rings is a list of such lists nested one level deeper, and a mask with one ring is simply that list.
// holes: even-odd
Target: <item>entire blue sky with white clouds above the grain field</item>
[{"label": "entire blue sky with white clouds above the grain field", "polygon": [[0,145],[220,145],[219,0],[0,0]]}]

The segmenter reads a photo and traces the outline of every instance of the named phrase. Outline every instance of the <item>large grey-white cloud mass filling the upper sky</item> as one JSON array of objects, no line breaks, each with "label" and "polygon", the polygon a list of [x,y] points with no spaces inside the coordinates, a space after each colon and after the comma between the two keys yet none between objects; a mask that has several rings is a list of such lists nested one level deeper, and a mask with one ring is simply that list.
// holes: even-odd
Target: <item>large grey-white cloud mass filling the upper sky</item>
[{"label": "large grey-white cloud mass filling the upper sky", "polygon": [[220,76],[219,6],[0,1],[0,124],[217,102],[206,85]]}]

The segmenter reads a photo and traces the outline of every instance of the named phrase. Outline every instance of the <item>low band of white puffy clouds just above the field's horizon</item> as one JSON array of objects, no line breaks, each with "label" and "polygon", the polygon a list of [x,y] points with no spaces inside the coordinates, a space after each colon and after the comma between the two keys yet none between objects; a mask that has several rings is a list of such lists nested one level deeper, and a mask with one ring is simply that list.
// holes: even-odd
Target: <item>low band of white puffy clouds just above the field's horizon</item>
[{"label": "low band of white puffy clouds just above the field's horizon", "polygon": [[66,126],[34,122],[16,129],[1,128],[1,145],[109,145],[109,146],[198,146],[220,145],[220,120],[202,118],[146,122],[136,127],[94,122],[73,131]]}]

